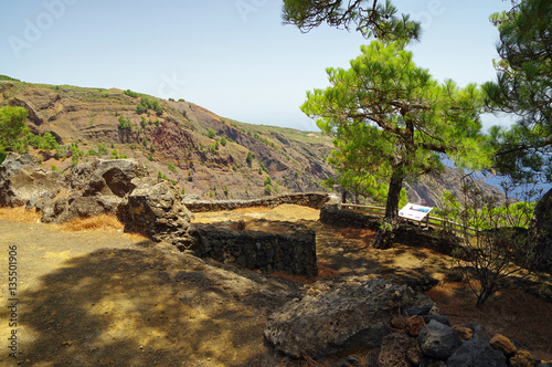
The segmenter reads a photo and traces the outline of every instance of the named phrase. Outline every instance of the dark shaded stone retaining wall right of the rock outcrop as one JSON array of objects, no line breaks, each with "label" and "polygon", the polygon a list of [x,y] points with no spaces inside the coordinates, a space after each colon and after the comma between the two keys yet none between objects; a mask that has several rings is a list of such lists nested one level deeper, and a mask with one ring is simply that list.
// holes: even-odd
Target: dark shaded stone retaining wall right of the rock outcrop
[{"label": "dark shaded stone retaining wall right of the rock outcrop", "polygon": [[194,238],[195,254],[265,273],[284,271],[306,276],[318,273],[314,230],[295,223],[286,223],[286,229],[278,233],[241,231],[232,226],[194,224],[190,234]]}]

